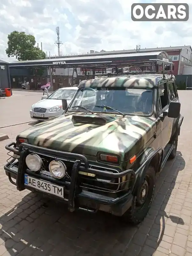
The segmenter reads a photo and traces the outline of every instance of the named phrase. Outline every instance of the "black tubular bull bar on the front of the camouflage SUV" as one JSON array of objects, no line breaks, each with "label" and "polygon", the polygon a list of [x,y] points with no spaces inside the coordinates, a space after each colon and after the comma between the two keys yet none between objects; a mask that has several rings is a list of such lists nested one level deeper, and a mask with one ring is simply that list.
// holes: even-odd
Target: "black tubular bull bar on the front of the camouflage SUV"
[{"label": "black tubular bull bar on the front of the camouflage SUV", "polygon": [[[25,164],[26,164],[25,158],[29,154],[29,151],[34,151],[37,154],[38,154],[38,152],[39,153],[43,152],[47,156],[54,157],[54,158],[66,157],[67,159],[76,159],[76,161],[72,167],[71,182],[70,182],[70,186],[69,186],[69,195],[68,195],[69,211],[75,210],[75,198],[85,198],[88,200],[93,200],[96,203],[100,203],[100,204],[104,204],[104,205],[108,205],[108,206],[112,206],[121,201],[124,201],[124,199],[125,200],[132,199],[132,191],[133,191],[135,181],[136,181],[136,174],[131,169],[125,170],[123,172],[118,172],[118,173],[96,170],[93,168],[89,168],[89,162],[84,155],[69,153],[69,152],[62,152],[62,151],[52,150],[52,149],[48,149],[48,148],[42,148],[42,147],[27,144],[27,143],[21,143],[19,146],[19,149],[16,149],[16,143],[11,142],[5,146],[5,149],[13,152],[14,154],[20,155],[17,172],[15,172],[14,170],[9,168],[10,164],[12,164],[15,161],[15,159],[12,159],[10,162],[6,163],[4,166],[4,170],[8,172],[8,177],[9,177],[10,182],[12,184],[16,185],[17,190],[19,190],[19,191],[24,190],[26,188],[24,185],[24,174],[28,173],[28,169],[25,168]],[[84,167],[80,166],[81,163],[84,163]],[[89,194],[86,194],[84,192],[76,193],[76,188],[78,186],[78,184],[77,184],[78,170],[84,170],[86,172],[99,174],[99,175],[103,175],[103,176],[110,177],[110,178],[121,178],[125,175],[131,174],[133,177],[132,182],[131,182],[132,185],[129,188],[129,190],[126,191],[126,193],[124,193],[120,197],[117,197],[114,199],[111,197],[102,196],[100,194],[97,194],[97,196],[94,196],[95,195],[94,193],[89,193]],[[17,177],[16,182],[12,181],[11,173],[16,175],[16,177]]]}]

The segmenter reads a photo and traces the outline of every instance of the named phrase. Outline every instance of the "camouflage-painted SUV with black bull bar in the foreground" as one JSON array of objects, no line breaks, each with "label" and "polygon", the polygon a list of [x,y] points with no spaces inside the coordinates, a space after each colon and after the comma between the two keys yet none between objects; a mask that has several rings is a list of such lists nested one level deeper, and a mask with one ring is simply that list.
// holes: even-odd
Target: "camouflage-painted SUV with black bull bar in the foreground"
[{"label": "camouflage-painted SUV with black bull bar in the foreground", "polygon": [[70,105],[62,104],[63,115],[28,128],[6,146],[14,153],[4,166],[10,182],[20,191],[62,199],[69,211],[101,210],[140,223],[156,175],[177,151],[183,117],[174,79],[84,80]]}]

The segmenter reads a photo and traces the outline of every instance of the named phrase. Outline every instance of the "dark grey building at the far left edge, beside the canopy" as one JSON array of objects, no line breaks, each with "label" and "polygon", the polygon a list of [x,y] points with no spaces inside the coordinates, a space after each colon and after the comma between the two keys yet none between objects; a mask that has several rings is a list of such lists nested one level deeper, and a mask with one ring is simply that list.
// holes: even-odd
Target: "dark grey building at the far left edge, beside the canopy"
[{"label": "dark grey building at the far left edge, beside the canopy", "polygon": [[9,63],[0,59],[0,89],[4,91],[5,88],[11,89]]}]

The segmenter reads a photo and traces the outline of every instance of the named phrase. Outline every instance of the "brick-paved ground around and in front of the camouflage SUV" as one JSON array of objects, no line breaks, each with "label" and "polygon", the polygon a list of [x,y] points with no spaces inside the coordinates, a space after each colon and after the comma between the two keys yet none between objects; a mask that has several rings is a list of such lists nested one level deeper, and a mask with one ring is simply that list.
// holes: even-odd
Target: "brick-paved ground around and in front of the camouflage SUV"
[{"label": "brick-paved ground around and in front of the camouflage SUV", "polygon": [[191,256],[192,92],[179,95],[184,121],[177,156],[161,172],[155,200],[138,227],[104,213],[68,213],[54,201],[46,209],[46,198],[18,192],[4,174],[4,145],[31,124],[0,129],[10,137],[0,142],[0,255]]}]

